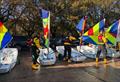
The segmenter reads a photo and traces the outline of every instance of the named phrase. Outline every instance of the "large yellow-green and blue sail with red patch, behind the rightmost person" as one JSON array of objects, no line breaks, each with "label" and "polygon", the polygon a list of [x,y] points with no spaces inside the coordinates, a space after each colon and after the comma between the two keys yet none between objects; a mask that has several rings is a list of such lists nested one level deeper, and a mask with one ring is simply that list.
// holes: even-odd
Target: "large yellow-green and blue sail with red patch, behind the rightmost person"
[{"label": "large yellow-green and blue sail with red patch, behind the rightmost person", "polygon": [[98,22],[95,26],[90,28],[86,33],[83,34],[82,40],[92,44],[99,44],[98,35],[101,30],[104,30],[105,19]]}]

